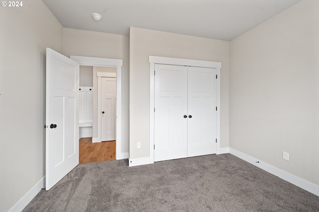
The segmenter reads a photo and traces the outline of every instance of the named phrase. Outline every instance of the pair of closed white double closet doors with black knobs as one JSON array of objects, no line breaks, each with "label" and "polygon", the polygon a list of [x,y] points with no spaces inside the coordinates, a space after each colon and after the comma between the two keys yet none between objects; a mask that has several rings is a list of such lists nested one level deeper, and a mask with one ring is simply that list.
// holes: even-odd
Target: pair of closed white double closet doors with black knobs
[{"label": "pair of closed white double closet doors with black knobs", "polygon": [[216,153],[217,72],[155,64],[154,161]]}]

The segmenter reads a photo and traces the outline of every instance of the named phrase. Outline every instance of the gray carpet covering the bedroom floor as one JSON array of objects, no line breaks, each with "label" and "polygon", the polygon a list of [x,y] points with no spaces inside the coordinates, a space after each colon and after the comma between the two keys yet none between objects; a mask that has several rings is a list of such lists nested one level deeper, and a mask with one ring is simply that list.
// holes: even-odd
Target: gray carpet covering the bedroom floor
[{"label": "gray carpet covering the bedroom floor", "polygon": [[319,212],[319,197],[231,154],[80,164],[23,212]]}]

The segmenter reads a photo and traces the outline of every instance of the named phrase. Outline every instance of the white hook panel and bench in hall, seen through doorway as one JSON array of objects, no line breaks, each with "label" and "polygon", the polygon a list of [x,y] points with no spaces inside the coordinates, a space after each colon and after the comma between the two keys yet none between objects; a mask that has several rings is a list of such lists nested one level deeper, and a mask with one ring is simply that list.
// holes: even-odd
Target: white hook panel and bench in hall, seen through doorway
[{"label": "white hook panel and bench in hall, seen through doorway", "polygon": [[92,137],[93,87],[80,87],[79,93],[79,136]]}]

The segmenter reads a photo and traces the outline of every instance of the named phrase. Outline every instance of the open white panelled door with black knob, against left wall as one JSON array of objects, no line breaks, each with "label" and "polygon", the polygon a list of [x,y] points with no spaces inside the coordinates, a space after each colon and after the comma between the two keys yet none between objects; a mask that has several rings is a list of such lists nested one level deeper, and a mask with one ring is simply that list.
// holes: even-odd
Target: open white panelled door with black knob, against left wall
[{"label": "open white panelled door with black knob, against left wall", "polygon": [[45,189],[79,164],[79,64],[46,49]]}]

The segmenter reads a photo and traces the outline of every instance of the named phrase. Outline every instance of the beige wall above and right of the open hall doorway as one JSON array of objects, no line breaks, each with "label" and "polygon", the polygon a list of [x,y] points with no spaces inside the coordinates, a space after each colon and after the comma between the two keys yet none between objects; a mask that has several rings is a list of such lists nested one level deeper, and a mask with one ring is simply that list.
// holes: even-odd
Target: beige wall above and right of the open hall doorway
[{"label": "beige wall above and right of the open hall doorway", "polygon": [[[129,151],[129,36],[63,29],[63,54],[122,59],[121,152]],[[97,133],[97,132],[96,132]],[[95,136],[93,132],[93,136]]]}]

